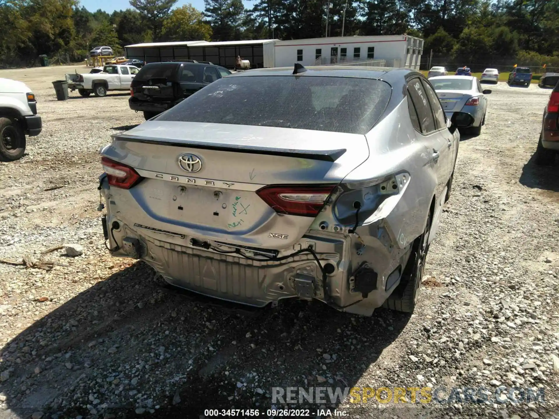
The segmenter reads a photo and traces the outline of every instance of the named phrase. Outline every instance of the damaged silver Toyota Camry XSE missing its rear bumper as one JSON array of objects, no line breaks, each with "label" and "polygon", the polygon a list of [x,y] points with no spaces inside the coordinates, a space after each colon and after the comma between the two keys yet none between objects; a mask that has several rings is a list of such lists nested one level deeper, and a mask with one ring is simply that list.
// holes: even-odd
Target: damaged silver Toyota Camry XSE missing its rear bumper
[{"label": "damaged silver Toyota Camry XSE missing its rear bumper", "polygon": [[458,152],[408,69],[259,69],[217,80],[101,150],[107,246],[231,302],[411,312]]}]

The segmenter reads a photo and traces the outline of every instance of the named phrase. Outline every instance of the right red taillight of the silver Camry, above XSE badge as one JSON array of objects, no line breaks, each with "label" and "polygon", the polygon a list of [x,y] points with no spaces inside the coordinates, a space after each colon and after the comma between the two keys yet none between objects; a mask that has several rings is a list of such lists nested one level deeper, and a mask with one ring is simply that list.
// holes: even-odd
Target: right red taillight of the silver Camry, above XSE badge
[{"label": "right red taillight of the silver Camry, above XSE badge", "polygon": [[271,185],[256,191],[280,214],[316,217],[336,185]]}]

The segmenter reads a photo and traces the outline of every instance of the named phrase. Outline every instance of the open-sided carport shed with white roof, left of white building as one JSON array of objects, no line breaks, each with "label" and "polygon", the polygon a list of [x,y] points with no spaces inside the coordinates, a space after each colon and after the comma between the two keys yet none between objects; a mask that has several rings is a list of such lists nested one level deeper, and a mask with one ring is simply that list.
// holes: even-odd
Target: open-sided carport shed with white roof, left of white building
[{"label": "open-sided carport shed with white roof, left of white building", "polygon": [[250,61],[251,68],[274,66],[274,40],[260,39],[248,41],[184,41],[184,42],[150,42],[125,47],[126,57],[143,60],[146,63],[160,61],[211,61],[211,63],[235,67],[235,58],[239,55]]}]

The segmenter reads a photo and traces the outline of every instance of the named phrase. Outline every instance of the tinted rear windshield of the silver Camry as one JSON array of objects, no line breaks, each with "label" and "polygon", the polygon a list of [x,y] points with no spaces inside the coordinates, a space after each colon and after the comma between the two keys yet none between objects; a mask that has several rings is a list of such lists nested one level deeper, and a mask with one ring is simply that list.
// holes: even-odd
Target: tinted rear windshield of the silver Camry
[{"label": "tinted rear windshield of the silver Camry", "polygon": [[380,80],[314,76],[226,77],[158,121],[259,125],[366,134],[389,102]]}]

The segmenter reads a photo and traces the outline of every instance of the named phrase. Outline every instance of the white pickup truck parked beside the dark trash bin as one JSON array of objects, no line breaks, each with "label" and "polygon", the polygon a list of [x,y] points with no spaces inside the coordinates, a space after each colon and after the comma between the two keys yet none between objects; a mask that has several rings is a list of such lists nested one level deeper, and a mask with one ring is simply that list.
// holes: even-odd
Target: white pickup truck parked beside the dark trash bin
[{"label": "white pickup truck parked beside the dark trash bin", "polygon": [[112,90],[129,91],[132,78],[139,71],[133,65],[105,65],[102,73],[67,74],[66,80],[72,92],[77,89],[83,97],[88,97],[91,93],[103,97]]}]

